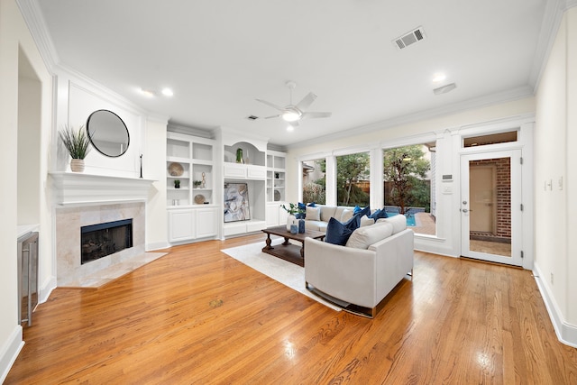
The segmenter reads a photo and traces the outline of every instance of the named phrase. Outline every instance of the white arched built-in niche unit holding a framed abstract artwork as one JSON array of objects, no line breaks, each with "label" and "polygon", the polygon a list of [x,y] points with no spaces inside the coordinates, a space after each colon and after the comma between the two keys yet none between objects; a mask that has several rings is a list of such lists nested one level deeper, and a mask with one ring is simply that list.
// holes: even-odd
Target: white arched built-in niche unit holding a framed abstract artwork
[{"label": "white arched built-in niche unit holding a framed abstract artwork", "polygon": [[267,226],[266,144],[223,135],[224,237],[257,232]]}]

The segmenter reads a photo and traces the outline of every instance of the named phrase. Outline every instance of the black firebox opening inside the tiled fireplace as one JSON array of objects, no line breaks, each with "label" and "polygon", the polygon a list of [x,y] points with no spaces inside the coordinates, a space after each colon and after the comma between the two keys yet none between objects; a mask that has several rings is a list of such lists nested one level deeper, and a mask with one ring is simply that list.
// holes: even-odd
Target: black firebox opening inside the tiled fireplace
[{"label": "black firebox opening inside the tiled fireplace", "polygon": [[133,247],[132,218],[82,226],[80,233],[82,264]]}]

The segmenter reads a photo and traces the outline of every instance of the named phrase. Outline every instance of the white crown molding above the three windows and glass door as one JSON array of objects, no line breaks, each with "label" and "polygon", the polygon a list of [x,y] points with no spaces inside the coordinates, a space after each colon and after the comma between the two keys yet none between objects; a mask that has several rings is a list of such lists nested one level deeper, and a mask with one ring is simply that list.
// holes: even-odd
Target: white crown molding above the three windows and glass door
[{"label": "white crown molding above the three windows and glass door", "polygon": [[504,92],[499,92],[497,94],[476,97],[474,99],[454,103],[453,105],[444,105],[439,108],[432,108],[425,111],[420,111],[415,114],[398,116],[391,119],[376,122],[373,124],[366,124],[359,127],[353,127],[352,129],[343,130],[338,133],[323,135],[317,138],[309,139],[307,141],[292,143],[289,144],[287,148],[288,149],[299,148],[311,144],[318,144],[334,141],[336,139],[348,138],[362,133],[372,133],[375,131],[387,130],[389,128],[398,127],[399,125],[416,123],[426,119],[434,118],[436,116],[457,114],[473,108],[482,108],[490,105],[499,105],[502,103],[513,102],[515,100],[531,96],[534,96],[533,87],[530,86],[517,87]]}]

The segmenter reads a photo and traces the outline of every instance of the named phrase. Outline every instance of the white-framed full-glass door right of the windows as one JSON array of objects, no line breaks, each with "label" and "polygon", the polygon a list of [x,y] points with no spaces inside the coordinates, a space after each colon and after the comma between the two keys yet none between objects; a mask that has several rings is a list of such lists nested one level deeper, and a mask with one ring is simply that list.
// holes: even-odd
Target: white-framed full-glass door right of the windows
[{"label": "white-framed full-glass door right of the windows", "polygon": [[461,157],[461,254],[521,266],[521,151]]}]

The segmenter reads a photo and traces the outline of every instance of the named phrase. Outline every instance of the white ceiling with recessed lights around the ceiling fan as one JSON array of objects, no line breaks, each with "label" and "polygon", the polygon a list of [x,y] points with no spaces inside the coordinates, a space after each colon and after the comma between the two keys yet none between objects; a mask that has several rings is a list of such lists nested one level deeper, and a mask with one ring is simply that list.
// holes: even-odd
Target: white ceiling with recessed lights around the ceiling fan
[{"label": "white ceiling with recessed lights around the ceiling fan", "polygon": [[[58,64],[175,124],[225,126],[280,146],[531,95],[551,33],[549,0],[33,1]],[[393,45],[418,26],[424,41]],[[437,72],[447,78],[435,85]],[[309,110],[333,116],[292,133],[279,118],[246,119],[275,115],[255,98],[289,104],[287,80],[297,82],[293,102],[312,91]]]}]

